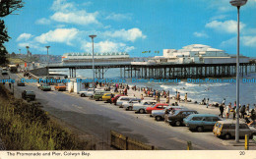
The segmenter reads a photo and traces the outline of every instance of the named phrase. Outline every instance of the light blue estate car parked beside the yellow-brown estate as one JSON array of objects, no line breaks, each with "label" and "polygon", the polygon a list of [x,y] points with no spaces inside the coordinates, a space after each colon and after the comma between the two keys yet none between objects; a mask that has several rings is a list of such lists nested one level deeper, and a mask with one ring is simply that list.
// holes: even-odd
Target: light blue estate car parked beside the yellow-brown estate
[{"label": "light blue estate car parked beside the yellow-brown estate", "polygon": [[197,132],[213,130],[216,122],[218,121],[222,121],[222,119],[213,114],[191,114],[187,118],[183,119],[183,123],[190,130],[197,130]]}]

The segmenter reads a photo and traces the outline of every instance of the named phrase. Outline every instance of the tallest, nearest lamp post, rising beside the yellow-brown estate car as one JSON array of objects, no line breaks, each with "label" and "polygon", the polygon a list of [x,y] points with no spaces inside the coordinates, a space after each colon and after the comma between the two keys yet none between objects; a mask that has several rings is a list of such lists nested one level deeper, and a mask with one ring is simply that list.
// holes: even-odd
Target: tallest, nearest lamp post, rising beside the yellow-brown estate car
[{"label": "tallest, nearest lamp post, rising beside the yellow-brown estate car", "polygon": [[247,0],[231,0],[230,4],[237,7],[237,55],[236,55],[236,124],[235,124],[235,142],[239,142],[239,39],[240,39],[240,7],[245,5]]}]

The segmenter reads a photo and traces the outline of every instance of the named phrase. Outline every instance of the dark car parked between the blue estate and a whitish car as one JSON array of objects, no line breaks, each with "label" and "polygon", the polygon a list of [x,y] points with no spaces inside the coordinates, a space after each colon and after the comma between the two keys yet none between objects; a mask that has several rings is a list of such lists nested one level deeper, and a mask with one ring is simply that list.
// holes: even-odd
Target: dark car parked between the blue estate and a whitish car
[{"label": "dark car parked between the blue estate and a whitish car", "polygon": [[183,119],[191,114],[198,114],[195,110],[178,110],[175,111],[174,114],[165,114],[164,121],[169,123],[171,126],[182,126],[183,125]]}]

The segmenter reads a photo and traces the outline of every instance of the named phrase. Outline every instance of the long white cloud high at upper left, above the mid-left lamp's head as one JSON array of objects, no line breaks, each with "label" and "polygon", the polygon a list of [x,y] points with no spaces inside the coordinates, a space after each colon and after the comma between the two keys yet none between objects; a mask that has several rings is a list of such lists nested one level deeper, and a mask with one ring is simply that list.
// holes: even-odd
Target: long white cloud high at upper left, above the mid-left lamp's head
[{"label": "long white cloud high at upper left, above the mid-left lamp's head", "polygon": [[90,24],[99,24],[96,20],[96,13],[87,13],[86,11],[76,11],[76,12],[56,12],[50,17],[51,20],[67,24],[76,24],[76,25],[90,25]]}]

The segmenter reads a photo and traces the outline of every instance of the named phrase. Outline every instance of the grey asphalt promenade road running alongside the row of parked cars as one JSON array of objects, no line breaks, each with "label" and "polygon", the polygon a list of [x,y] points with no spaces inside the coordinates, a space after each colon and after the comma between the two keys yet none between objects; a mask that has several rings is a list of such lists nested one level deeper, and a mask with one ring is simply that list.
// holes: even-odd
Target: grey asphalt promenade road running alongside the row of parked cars
[{"label": "grey asphalt promenade road running alongside the row of parked cars", "polygon": [[[18,76],[11,74],[11,78],[18,79]],[[41,91],[36,83],[28,83],[27,86],[15,84],[15,95],[21,97],[21,92],[25,89],[33,90],[35,100],[52,116],[82,132],[96,135],[102,142],[109,143],[110,130],[113,130],[159,149],[185,150],[187,141],[192,141],[193,149],[198,150],[243,149],[242,146],[226,145],[213,132],[190,132],[186,127],[171,127],[164,122],[156,122],[147,114],[124,111],[114,105],[82,98],[67,91]]]}]

